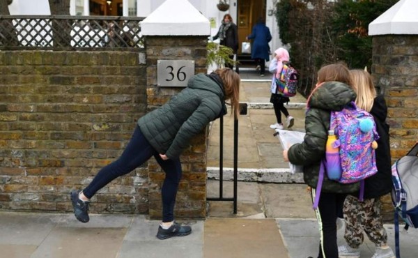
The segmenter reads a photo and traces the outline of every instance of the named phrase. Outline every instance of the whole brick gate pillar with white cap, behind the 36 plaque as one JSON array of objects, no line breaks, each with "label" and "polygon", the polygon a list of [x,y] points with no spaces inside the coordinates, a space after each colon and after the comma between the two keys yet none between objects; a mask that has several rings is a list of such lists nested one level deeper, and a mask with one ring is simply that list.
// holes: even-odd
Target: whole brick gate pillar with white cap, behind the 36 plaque
[{"label": "whole brick gate pillar with white cap, behind the 36 plaque", "polygon": [[[148,109],[164,104],[181,89],[157,86],[158,60],[194,61],[195,73],[206,73],[209,21],[187,0],[167,0],[142,23],[146,36]],[[183,178],[177,195],[176,218],[206,217],[206,131],[192,139],[180,160]],[[148,162],[149,215],[162,218],[161,187],[164,172],[154,159]]]}]

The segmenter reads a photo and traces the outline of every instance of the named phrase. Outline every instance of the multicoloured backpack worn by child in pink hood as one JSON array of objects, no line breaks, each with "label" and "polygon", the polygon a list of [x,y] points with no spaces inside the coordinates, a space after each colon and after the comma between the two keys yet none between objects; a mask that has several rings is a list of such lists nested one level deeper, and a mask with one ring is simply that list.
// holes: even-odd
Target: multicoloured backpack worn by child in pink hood
[{"label": "multicoloured backpack worn by child in pink hood", "polygon": [[299,82],[299,73],[288,62],[283,62],[280,77],[276,78],[277,91],[285,97],[293,97],[297,93],[297,83]]}]

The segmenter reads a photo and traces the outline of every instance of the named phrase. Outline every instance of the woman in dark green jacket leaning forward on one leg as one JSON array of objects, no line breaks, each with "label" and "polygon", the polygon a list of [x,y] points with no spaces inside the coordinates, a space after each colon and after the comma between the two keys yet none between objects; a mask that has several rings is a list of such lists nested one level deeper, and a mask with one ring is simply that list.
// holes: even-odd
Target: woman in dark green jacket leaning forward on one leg
[{"label": "woman in dark green jacket leaning forward on one leg", "polygon": [[169,102],[138,120],[130,142],[116,161],[100,169],[86,188],[71,191],[75,218],[88,222],[90,199],[98,190],[154,157],[166,174],[161,189],[162,222],[157,238],[190,234],[191,227],[174,221],[174,205],[182,175],[180,154],[187,148],[190,139],[210,121],[226,114],[226,100],[229,100],[233,113],[238,117],[239,94],[240,76],[230,68],[191,77],[187,87]]}]

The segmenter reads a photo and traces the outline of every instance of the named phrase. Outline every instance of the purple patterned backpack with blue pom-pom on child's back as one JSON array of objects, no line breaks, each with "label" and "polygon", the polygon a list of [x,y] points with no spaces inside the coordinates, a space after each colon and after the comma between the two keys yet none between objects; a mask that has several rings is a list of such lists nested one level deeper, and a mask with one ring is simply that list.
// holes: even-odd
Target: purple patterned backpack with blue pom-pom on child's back
[{"label": "purple patterned backpack with blue pom-pom on child's back", "polygon": [[[364,179],[378,172],[375,149],[379,135],[373,116],[351,102],[341,111],[331,112],[330,130],[334,130],[337,137],[334,148],[339,148],[341,165],[341,176],[334,180],[339,183],[360,182],[359,199],[362,201]],[[314,208],[318,207],[326,167],[326,160],[322,160]]]}]

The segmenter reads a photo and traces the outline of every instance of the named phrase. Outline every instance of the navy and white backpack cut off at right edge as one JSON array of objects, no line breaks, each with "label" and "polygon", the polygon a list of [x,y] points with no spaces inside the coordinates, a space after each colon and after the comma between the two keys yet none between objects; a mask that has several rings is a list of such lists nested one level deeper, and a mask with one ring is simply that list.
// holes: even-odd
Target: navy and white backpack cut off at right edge
[{"label": "navy and white backpack cut off at right edge", "polygon": [[395,250],[400,258],[399,220],[405,229],[418,228],[418,143],[392,165],[392,202],[394,204]]}]

